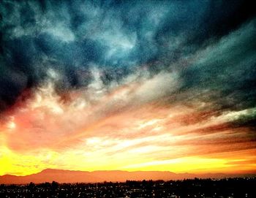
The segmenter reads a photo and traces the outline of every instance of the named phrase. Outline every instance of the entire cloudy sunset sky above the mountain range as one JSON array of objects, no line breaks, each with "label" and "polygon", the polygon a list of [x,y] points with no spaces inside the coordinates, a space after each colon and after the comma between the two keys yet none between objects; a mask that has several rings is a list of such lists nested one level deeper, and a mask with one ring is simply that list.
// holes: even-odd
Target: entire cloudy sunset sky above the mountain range
[{"label": "entire cloudy sunset sky above the mountain range", "polygon": [[250,1],[0,2],[0,175],[256,172]]}]

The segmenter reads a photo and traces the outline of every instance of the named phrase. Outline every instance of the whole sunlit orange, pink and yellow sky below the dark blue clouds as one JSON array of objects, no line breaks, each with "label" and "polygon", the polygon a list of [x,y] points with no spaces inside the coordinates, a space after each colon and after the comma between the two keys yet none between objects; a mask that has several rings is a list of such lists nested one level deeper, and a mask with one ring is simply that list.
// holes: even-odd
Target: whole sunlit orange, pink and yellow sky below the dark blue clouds
[{"label": "whole sunlit orange, pink and yellow sky below the dark blue clouds", "polygon": [[[256,108],[211,115],[200,111],[198,102],[159,104],[158,96],[175,90],[162,83],[169,75],[146,76],[145,82],[135,83],[131,80],[136,77],[129,77],[108,91],[96,81],[87,92],[69,93],[69,103],[61,102],[53,85],[46,83],[1,123],[0,175],[29,175],[47,168],[255,171],[253,134],[227,122],[255,116]],[[176,80],[175,74],[167,79],[173,86]]]}]

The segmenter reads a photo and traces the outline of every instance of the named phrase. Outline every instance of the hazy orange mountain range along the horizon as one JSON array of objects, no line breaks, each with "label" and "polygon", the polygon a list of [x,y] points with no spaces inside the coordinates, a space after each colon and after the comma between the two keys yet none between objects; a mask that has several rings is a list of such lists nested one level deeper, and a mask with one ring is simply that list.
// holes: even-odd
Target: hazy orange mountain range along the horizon
[{"label": "hazy orange mountain range along the horizon", "polygon": [[249,177],[256,174],[233,174],[227,175],[223,173],[214,174],[189,174],[189,173],[174,173],[169,171],[121,171],[121,170],[102,170],[102,171],[75,171],[75,170],[54,170],[46,169],[32,175],[15,176],[3,175],[0,176],[0,183],[3,184],[24,184],[24,183],[45,183],[53,180],[59,183],[97,183],[104,181],[122,182],[126,180],[183,180],[185,178],[234,178],[234,177]]}]

